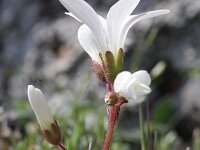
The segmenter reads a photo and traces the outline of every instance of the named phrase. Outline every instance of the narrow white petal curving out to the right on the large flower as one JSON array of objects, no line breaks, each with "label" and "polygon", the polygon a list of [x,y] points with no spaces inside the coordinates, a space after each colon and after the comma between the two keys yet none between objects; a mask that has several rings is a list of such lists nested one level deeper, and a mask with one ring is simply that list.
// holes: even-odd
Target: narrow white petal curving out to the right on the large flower
[{"label": "narrow white petal curving out to the right on the large flower", "polygon": [[141,20],[145,20],[148,18],[152,18],[152,17],[156,17],[156,16],[160,16],[160,15],[164,15],[169,13],[169,10],[155,10],[155,11],[149,11],[146,13],[142,13],[139,15],[133,15],[131,16],[129,19],[127,19],[126,24],[124,25],[122,31],[121,31],[121,35],[120,35],[120,47],[123,48],[124,47],[124,43],[126,40],[126,36],[128,34],[129,29],[137,22],[141,21]]}]

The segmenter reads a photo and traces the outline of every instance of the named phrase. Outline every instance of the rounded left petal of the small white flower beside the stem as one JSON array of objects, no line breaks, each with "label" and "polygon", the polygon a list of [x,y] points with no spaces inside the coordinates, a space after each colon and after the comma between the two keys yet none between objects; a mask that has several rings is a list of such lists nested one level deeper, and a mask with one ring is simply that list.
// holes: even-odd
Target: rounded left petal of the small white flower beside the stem
[{"label": "rounded left petal of the small white flower beside the stem", "polygon": [[126,84],[130,80],[131,73],[128,71],[123,71],[117,75],[114,81],[114,91],[116,93],[122,94],[121,96],[124,96],[124,89],[126,87]]}]

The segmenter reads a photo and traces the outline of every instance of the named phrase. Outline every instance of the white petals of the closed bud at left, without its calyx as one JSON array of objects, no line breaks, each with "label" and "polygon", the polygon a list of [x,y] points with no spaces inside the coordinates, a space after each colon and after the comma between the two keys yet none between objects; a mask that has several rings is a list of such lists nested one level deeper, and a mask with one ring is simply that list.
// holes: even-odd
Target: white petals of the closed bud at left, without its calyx
[{"label": "white petals of the closed bud at left, without its calyx", "polygon": [[37,117],[38,123],[41,129],[50,129],[52,123],[54,123],[54,118],[52,117],[48,104],[45,100],[43,93],[40,89],[35,88],[32,85],[28,86],[28,99],[33,108],[33,111]]}]

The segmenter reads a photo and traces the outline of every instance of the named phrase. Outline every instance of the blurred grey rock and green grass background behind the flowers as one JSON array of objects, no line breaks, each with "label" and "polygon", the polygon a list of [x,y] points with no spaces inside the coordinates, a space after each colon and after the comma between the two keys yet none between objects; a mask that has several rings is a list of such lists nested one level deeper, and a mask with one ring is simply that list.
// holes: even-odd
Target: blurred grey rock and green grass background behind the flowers
[{"label": "blurred grey rock and green grass background behind the flowers", "polygon": [[[87,2],[105,17],[116,0]],[[124,69],[152,75],[142,104],[150,147],[200,150],[200,1],[141,0],[134,13],[156,9],[171,13],[131,29]],[[65,11],[58,0],[0,1],[0,150],[56,149],[40,136],[28,84],[45,94],[70,150],[103,145],[105,88]],[[113,150],[140,149],[138,106],[123,107],[115,131]]]}]

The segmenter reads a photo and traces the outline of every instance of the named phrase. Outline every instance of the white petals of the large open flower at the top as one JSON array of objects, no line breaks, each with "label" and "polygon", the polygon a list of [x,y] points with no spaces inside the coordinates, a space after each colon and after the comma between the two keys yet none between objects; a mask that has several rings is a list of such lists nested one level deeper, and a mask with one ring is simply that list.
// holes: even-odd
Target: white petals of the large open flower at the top
[{"label": "white petals of the large open flower at the top", "polygon": [[124,49],[127,33],[135,23],[169,13],[169,10],[156,10],[131,15],[139,1],[119,0],[104,19],[84,0],[60,0],[69,11],[67,15],[84,23],[79,28],[78,39],[83,49],[96,62],[100,62],[99,53],[104,56],[106,51],[111,51],[116,58],[118,50]]}]

